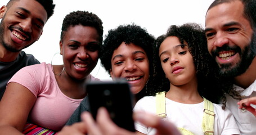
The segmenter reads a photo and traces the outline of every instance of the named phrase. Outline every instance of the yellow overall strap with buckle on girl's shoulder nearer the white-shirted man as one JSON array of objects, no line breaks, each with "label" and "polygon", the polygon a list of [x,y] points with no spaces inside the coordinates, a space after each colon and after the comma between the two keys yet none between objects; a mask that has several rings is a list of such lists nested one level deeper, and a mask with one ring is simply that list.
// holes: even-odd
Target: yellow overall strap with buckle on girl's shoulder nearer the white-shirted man
[{"label": "yellow overall strap with buckle on girl's shoulder nearer the white-shirted man", "polygon": [[204,98],[204,116],[202,122],[202,128],[205,135],[214,134],[214,106],[213,103]]}]

